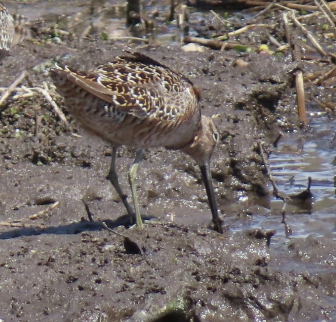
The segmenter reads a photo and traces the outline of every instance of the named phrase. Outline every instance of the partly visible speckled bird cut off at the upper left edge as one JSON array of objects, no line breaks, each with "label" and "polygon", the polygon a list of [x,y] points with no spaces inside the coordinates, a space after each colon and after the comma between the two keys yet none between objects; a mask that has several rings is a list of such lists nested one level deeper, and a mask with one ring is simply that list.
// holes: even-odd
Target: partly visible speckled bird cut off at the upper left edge
[{"label": "partly visible speckled bird cut off at the upper left edge", "polygon": [[14,39],[14,21],[6,7],[0,3],[0,60],[9,52]]}]

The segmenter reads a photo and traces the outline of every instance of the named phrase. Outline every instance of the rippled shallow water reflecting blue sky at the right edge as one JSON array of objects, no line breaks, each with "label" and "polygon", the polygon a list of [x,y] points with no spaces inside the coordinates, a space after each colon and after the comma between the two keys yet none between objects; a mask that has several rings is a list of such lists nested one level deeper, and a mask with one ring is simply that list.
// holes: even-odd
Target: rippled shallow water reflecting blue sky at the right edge
[{"label": "rippled shallow water reflecting blue sky at the right edge", "polygon": [[[306,132],[287,133],[274,149],[269,159],[270,169],[278,188],[287,195],[298,193],[307,187],[312,178],[311,192],[314,203],[309,211],[286,206],[292,237],[306,237],[311,233],[319,236],[330,234],[336,238],[336,196],[334,187],[335,157],[333,138],[336,121],[327,116],[311,114]],[[278,211],[282,202],[272,201],[271,211]]]}]

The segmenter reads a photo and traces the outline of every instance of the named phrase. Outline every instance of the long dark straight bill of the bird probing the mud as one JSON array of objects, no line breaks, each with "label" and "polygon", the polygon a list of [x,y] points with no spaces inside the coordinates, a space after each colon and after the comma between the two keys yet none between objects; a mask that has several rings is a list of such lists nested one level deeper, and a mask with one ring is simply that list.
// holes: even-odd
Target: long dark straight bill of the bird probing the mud
[{"label": "long dark straight bill of the bird probing the mud", "polygon": [[206,164],[199,166],[199,167],[201,169],[202,179],[203,179],[204,185],[206,186],[206,190],[207,190],[209,206],[210,206],[211,213],[212,213],[212,221],[214,223],[214,229],[220,232],[220,234],[222,234],[223,230],[221,227],[221,220],[219,219],[214,188],[212,185],[210,162],[207,162]]}]

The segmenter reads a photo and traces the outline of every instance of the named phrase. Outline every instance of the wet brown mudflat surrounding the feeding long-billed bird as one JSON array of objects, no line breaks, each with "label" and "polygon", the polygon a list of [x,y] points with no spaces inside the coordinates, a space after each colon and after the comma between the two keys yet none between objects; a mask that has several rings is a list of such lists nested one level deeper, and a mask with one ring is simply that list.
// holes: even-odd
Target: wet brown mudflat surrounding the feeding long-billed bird
[{"label": "wet brown mudflat surrounding the feeding long-billed bird", "polygon": [[[256,213],[270,216],[272,190],[258,142],[268,155],[279,133],[304,136],[290,52],[185,52],[179,44],[143,46],[93,36],[60,40],[33,33],[0,66],[2,86],[23,70],[25,86],[46,82],[70,122],[68,129],[41,94],[12,97],[1,106],[0,320],[334,320],[332,238],[286,239],[279,213],[273,214],[275,227],[233,229]],[[73,122],[48,76],[55,60],[87,69],[123,49],[140,50],[201,88],[202,113],[215,115],[220,132],[212,174],[223,235],[210,227],[196,165],[164,149],[148,151],[138,174],[148,224],[124,225],[125,209],[106,179],[109,147]],[[237,59],[248,64],[239,66]],[[316,92],[334,98],[327,88],[307,88],[308,95]],[[134,152],[122,148],[117,159],[127,193]],[[83,199],[94,222],[87,220]],[[141,254],[129,254],[124,238],[103,229],[103,221],[135,241]]]}]

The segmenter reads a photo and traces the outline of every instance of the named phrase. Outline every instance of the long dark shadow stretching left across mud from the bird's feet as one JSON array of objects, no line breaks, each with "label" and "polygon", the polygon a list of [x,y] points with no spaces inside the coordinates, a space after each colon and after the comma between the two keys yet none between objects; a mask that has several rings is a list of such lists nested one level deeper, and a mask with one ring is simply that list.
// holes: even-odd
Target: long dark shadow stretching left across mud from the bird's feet
[{"label": "long dark shadow stretching left across mud from the bird's feet", "polygon": [[[150,220],[153,217],[143,216],[143,220]],[[102,230],[104,229],[103,223],[106,223],[107,227],[113,229],[118,226],[124,226],[129,228],[131,226],[129,222],[129,216],[123,215],[116,220],[106,219],[98,221],[89,221],[82,218],[80,222],[71,223],[68,225],[51,226],[46,228],[40,227],[22,227],[13,229],[10,231],[4,231],[0,233],[1,239],[12,239],[23,236],[36,236],[43,234],[55,234],[55,235],[76,235],[84,231]]]}]

